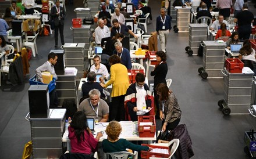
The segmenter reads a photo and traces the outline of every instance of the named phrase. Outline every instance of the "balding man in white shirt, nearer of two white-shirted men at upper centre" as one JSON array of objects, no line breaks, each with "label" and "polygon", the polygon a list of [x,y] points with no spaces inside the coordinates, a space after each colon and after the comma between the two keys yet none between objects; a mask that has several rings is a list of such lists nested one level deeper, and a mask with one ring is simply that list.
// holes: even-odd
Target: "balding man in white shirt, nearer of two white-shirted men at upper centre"
[{"label": "balding man in white shirt, nearer of two white-shirted men at upper centre", "polygon": [[102,38],[110,37],[110,31],[107,26],[104,25],[104,20],[98,20],[98,27],[95,28],[95,43],[97,45],[101,44]]}]

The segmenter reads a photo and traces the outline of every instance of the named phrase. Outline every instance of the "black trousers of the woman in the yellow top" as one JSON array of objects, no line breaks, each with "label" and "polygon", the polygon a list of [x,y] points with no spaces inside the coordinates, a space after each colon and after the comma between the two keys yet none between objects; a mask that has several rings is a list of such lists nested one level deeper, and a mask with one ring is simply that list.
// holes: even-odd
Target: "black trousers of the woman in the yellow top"
[{"label": "black trousers of the woman in the yellow top", "polygon": [[109,106],[109,121],[125,120],[125,95],[112,97],[112,104]]}]

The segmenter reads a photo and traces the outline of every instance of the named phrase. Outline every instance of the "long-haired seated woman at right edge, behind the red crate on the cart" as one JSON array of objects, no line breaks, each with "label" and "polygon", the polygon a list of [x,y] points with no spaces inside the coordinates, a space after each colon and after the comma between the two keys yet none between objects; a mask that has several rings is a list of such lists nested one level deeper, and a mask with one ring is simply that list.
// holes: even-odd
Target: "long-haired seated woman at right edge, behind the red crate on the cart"
[{"label": "long-haired seated woman at right edge, behind the red crate on the cart", "polygon": [[245,39],[243,47],[239,51],[239,59],[244,63],[244,67],[250,67],[251,70],[256,72],[256,56],[255,50],[251,48],[251,42],[249,39]]}]

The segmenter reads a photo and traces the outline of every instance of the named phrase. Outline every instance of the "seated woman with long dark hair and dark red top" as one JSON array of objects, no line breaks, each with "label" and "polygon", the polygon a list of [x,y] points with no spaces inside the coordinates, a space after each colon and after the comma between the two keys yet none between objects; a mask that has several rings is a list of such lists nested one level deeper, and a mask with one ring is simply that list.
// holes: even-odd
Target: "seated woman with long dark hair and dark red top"
[{"label": "seated woman with long dark hair and dark red top", "polygon": [[103,135],[99,132],[96,138],[94,138],[86,121],[86,115],[82,111],[74,113],[72,122],[68,128],[71,153],[92,155],[97,150],[98,140]]}]

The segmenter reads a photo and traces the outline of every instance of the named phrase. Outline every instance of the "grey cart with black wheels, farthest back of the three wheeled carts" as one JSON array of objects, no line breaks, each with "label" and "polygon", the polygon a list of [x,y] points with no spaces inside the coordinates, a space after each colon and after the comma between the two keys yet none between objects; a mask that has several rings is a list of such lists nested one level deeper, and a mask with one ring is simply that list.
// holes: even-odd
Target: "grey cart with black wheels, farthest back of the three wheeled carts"
[{"label": "grey cart with black wheels, farthest back of the three wheeled carts", "polygon": [[186,52],[191,55],[197,55],[199,46],[202,41],[207,40],[207,24],[189,24],[189,46],[185,48]]}]

